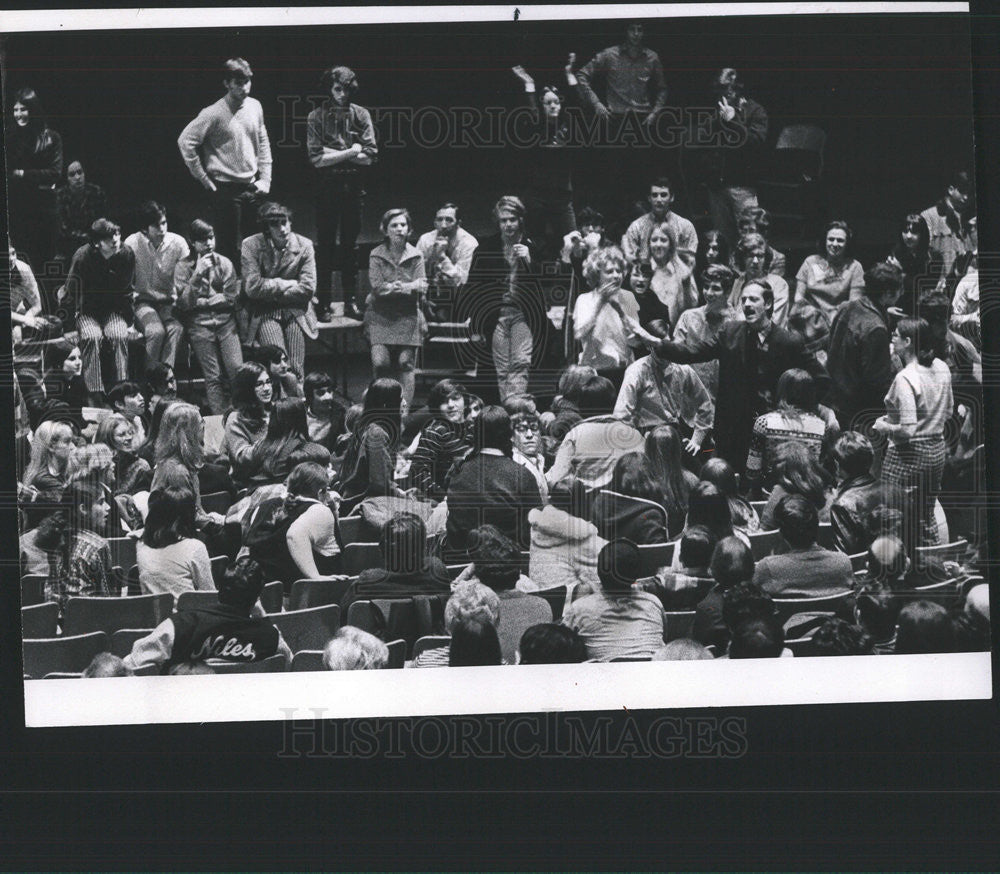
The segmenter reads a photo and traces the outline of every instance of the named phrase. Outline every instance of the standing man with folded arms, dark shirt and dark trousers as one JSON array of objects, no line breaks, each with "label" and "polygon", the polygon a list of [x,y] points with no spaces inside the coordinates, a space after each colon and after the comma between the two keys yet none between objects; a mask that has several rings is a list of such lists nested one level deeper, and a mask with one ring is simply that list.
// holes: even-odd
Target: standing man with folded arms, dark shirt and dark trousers
[{"label": "standing man with folded arms, dark shirt and dark trousers", "polygon": [[320,321],[330,320],[331,273],[340,271],[344,315],[361,317],[354,302],[358,264],[354,247],[361,232],[364,205],[363,167],[378,155],[375,126],[363,106],[351,103],[358,77],[350,67],[331,67],[323,73],[323,90],[330,97],[309,113],[306,149],[318,171],[316,189],[316,297]]}]

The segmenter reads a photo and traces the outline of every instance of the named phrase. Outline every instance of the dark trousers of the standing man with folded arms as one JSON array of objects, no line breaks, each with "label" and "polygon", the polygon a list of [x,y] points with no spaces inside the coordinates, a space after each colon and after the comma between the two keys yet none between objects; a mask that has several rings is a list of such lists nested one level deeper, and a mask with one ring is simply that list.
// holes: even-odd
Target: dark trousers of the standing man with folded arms
[{"label": "dark trousers of the standing man with folded arms", "polygon": [[354,300],[358,284],[355,244],[361,233],[365,192],[357,173],[324,176],[316,189],[316,299],[330,305],[331,274],[340,271],[344,302]]}]

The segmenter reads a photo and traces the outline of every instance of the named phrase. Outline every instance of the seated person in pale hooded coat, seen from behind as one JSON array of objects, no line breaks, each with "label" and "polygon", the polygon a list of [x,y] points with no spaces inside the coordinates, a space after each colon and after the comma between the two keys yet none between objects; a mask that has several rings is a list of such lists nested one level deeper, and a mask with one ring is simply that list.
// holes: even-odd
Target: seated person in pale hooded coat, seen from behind
[{"label": "seated person in pale hooded coat, seen from behind", "polygon": [[538,590],[565,586],[569,598],[580,583],[597,588],[597,555],[606,541],[584,518],[587,504],[583,484],[563,480],[552,487],[547,506],[528,513],[528,578]]}]

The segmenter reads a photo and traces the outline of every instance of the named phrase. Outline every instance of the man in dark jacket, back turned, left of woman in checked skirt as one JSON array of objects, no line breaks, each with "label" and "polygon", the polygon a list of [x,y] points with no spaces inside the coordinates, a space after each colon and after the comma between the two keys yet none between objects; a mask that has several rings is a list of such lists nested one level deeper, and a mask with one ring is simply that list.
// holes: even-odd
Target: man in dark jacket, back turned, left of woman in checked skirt
[{"label": "man in dark jacket, back turned, left of woman in checked skirt", "polygon": [[885,408],[895,375],[889,355],[889,307],[903,292],[903,274],[880,262],[865,274],[864,294],[833,318],[826,367],[830,406],[841,428],[859,427]]}]

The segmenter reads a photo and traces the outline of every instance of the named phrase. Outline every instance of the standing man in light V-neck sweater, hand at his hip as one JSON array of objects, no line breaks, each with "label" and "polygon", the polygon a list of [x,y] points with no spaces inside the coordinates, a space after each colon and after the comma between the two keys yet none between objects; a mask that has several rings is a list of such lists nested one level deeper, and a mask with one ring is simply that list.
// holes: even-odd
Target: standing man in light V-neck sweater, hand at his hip
[{"label": "standing man in light V-neck sweater, hand at his hip", "polygon": [[206,106],[177,138],[188,170],[209,192],[219,252],[238,259],[253,215],[271,190],[271,141],[260,101],[250,96],[253,71],[243,58],[223,67],[226,95]]}]

